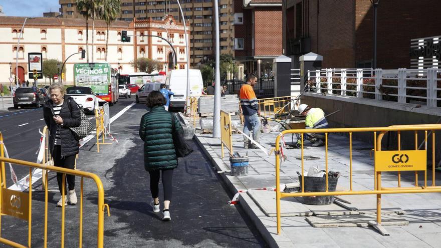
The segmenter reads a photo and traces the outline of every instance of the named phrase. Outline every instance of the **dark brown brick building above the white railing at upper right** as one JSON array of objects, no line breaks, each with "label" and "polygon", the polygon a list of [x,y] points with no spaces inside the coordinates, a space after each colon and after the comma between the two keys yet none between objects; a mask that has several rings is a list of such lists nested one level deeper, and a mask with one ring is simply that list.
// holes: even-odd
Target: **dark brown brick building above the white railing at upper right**
[{"label": "dark brown brick building above the white railing at upper right", "polygon": [[[379,1],[377,68],[410,68],[410,40],[439,36],[441,1]],[[308,52],[323,56],[322,68],[370,68],[373,6],[370,0],[287,0],[283,7],[284,54],[299,68]]]}]

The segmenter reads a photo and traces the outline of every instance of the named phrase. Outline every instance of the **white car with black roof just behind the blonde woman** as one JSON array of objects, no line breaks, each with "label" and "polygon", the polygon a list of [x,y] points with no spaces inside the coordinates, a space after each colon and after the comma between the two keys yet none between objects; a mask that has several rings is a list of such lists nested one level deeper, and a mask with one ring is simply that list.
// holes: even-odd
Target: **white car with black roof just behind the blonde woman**
[{"label": "white car with black roof just behind the blonde woman", "polygon": [[71,96],[78,105],[83,107],[84,112],[95,112],[98,108],[98,100],[93,90],[89,87],[73,86],[66,89],[66,95]]}]

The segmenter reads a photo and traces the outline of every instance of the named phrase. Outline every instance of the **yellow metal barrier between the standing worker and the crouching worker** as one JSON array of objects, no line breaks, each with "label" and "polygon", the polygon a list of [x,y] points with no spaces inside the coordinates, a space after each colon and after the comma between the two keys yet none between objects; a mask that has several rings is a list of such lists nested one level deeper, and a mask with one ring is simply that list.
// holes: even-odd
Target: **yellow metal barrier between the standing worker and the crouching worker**
[{"label": "yellow metal barrier between the standing worker and the crouching worker", "polygon": [[294,108],[294,100],[296,100],[294,96],[273,97],[258,99],[257,103],[261,116],[279,118],[280,115],[288,114]]}]

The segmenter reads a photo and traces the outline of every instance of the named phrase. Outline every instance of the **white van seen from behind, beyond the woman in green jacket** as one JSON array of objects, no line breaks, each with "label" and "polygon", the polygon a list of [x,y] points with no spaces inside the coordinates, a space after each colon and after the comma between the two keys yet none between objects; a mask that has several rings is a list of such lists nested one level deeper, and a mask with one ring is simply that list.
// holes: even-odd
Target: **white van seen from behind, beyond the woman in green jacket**
[{"label": "white van seen from behind, beyond the woman in green jacket", "polygon": [[[200,70],[190,69],[190,96],[200,96],[203,90]],[[165,84],[174,95],[170,98],[170,109],[183,110],[187,98],[187,69],[171,70],[167,73]]]}]

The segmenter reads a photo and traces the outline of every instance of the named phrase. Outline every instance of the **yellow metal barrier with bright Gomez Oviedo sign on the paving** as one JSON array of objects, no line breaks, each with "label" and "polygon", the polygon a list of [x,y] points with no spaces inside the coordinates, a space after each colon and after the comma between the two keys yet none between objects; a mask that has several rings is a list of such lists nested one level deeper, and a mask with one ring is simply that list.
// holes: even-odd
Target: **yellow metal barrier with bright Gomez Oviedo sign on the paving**
[{"label": "yellow metal barrier with bright Gomez Oviedo sign on the paving", "polygon": [[[329,129],[298,129],[286,130],[281,132],[276,138],[276,209],[277,209],[277,233],[281,231],[281,210],[280,199],[284,197],[303,197],[303,196],[330,196],[330,195],[377,195],[377,219],[376,223],[370,223],[382,234],[386,231],[381,226],[381,194],[397,194],[397,193],[426,193],[441,192],[441,186],[435,185],[435,133],[441,130],[441,124],[424,124],[424,125],[402,125],[390,127],[370,127],[370,128],[329,128]],[[398,134],[398,150],[397,151],[381,151],[381,140],[386,132],[397,132]],[[401,150],[400,136],[402,132],[411,131],[414,133],[414,150]],[[418,150],[418,131],[424,132],[425,149]],[[432,183],[427,186],[427,131],[431,131],[432,142]],[[370,132],[373,134],[374,143],[374,190],[354,191],[352,189],[352,134],[356,132]],[[322,192],[305,192],[304,177],[300,182],[302,191],[296,193],[284,193],[280,190],[280,141],[283,135],[300,133],[301,136],[301,170],[304,175],[304,135],[306,133],[325,133],[325,173],[326,173],[326,190]],[[328,134],[329,133],[348,133],[349,134],[349,182],[350,189],[347,191],[328,191]],[[378,134],[378,135],[377,135]],[[410,161],[410,162],[409,162]],[[400,176],[398,174],[398,187],[383,188],[381,187],[382,171],[415,171],[415,186],[401,187]],[[424,185],[418,186],[418,171],[424,172]]]}]

